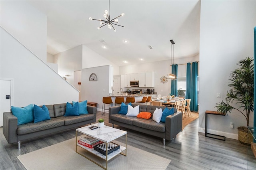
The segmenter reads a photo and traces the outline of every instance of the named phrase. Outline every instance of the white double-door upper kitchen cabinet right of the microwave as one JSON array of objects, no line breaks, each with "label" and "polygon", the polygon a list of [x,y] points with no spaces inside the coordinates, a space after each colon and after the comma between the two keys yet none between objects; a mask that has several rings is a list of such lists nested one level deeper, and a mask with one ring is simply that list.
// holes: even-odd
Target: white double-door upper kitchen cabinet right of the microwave
[{"label": "white double-door upper kitchen cabinet right of the microwave", "polygon": [[140,73],[139,87],[155,87],[155,72]]}]

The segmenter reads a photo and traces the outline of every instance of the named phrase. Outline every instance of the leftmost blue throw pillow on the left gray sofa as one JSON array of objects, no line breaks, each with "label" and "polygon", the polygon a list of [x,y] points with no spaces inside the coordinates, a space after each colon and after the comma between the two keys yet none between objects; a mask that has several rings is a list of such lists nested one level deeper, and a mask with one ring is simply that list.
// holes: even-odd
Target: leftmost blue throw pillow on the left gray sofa
[{"label": "leftmost blue throw pillow on the left gray sofa", "polygon": [[12,106],[12,114],[18,118],[18,125],[34,122],[33,104],[26,107]]}]

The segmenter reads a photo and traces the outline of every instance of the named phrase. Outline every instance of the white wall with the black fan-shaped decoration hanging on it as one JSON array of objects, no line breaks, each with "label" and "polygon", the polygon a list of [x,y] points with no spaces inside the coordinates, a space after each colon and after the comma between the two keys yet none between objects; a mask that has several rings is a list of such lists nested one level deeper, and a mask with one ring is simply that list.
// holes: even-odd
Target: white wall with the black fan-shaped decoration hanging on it
[{"label": "white wall with the black fan-shaped decoration hanging on it", "polygon": [[[98,103],[97,108],[100,111],[102,109],[102,97],[107,97],[110,89],[110,67],[110,65],[105,65],[82,69],[82,85],[80,92],[81,100]],[[98,81],[89,81],[91,73],[95,73],[97,75]],[[107,108],[108,106],[106,105],[106,109]]]}]

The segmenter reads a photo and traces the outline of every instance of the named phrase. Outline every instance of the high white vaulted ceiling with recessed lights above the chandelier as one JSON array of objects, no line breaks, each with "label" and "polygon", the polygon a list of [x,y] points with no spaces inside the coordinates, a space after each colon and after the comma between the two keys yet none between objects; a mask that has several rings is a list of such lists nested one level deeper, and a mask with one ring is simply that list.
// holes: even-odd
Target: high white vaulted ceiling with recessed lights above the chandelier
[{"label": "high white vaulted ceiling with recessed lights above the chandelier", "polygon": [[170,40],[175,42],[174,58],[199,53],[198,0],[110,0],[110,18],[125,13],[118,18],[125,28],[115,26],[116,32],[107,26],[98,30],[100,22],[89,21],[104,19],[108,0],[27,2],[47,16],[47,52],[52,55],[84,44],[122,66],[170,59]]}]

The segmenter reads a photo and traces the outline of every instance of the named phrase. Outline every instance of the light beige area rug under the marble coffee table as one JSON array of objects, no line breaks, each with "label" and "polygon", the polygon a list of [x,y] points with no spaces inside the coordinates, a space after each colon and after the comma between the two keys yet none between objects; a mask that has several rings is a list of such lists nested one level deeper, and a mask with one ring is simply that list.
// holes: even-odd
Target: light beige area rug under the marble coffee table
[{"label": "light beige area rug under the marble coffee table", "polygon": [[[23,154],[17,158],[27,170],[100,170],[100,166],[76,153],[76,138],[48,146],[33,152]],[[114,141],[117,144],[120,142]],[[122,144],[122,146],[125,146]],[[90,154],[90,158],[104,160],[94,156],[82,148],[79,152]],[[87,155],[88,156],[88,155]],[[151,154],[144,150],[127,146],[127,156],[118,154],[108,161],[109,170],[165,170],[171,160]]]}]

